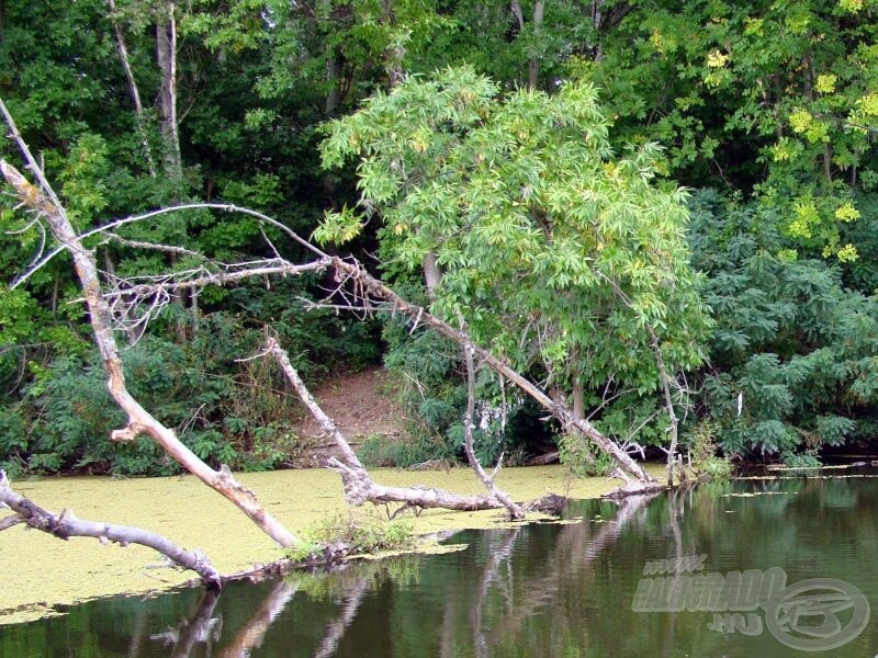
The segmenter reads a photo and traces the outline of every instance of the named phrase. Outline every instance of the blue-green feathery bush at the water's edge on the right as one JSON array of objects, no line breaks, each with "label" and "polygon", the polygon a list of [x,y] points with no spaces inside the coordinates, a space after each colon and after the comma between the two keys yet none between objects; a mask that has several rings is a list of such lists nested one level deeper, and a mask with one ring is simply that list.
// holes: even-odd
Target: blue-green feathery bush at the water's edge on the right
[{"label": "blue-green feathery bush at the water's edge on the right", "polygon": [[713,193],[693,201],[695,262],[717,319],[703,401],[732,456],[841,445],[863,435],[878,401],[878,299],[843,287],[837,266],[775,256],[789,245],[778,224]]}]

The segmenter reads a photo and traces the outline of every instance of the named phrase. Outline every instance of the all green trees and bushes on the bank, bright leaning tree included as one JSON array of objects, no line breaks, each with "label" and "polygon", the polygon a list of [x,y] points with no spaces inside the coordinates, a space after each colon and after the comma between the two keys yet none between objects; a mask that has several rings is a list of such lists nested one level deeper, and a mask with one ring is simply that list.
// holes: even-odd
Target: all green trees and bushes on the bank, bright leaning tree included
[{"label": "all green trees and bushes on the bank, bright leaning tree included", "polygon": [[[604,431],[661,444],[653,331],[695,394],[684,433],[708,420],[728,454],[795,461],[874,441],[875,10],[5,0],[0,97],[79,230],[189,200],[255,207],[376,254],[384,279]],[[57,258],[29,270],[53,247],[14,198],[0,205],[0,465],[172,470],[148,446],[89,442],[114,419],[72,271]],[[271,257],[260,230],[199,211],[88,246],[110,281],[193,266],[145,243]],[[295,442],[283,384],[235,361],[270,318],[306,377],[381,359],[412,375],[424,422],[407,453],[459,455],[461,355],[394,318],[302,313],[324,283],[180,295],[143,336],[128,326],[124,359],[180,375],[182,388],[145,393],[205,460],[273,467]],[[486,417],[498,386],[480,379]],[[513,407],[502,430],[485,423],[498,446],[555,442]]]}]

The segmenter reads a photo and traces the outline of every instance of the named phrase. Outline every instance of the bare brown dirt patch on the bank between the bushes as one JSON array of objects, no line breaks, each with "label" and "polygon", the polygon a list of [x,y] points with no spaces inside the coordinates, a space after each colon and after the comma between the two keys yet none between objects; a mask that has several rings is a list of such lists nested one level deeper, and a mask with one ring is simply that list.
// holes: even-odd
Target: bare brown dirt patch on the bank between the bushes
[{"label": "bare brown dirt patch on the bank between the bushes", "polygon": [[[372,434],[404,438],[405,411],[392,388],[387,371],[376,367],[333,377],[312,393],[356,450]],[[339,455],[335,443],[323,434],[309,415],[300,420],[294,430],[303,446],[302,456],[293,461],[295,466],[318,466],[330,455]]]}]

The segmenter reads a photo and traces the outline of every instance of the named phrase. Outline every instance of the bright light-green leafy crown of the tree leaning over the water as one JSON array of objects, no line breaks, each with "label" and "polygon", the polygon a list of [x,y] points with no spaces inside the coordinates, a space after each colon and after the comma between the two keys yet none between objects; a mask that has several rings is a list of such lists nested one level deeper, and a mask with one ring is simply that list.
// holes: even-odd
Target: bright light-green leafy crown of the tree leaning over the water
[{"label": "bright light-green leafy crown of the tree leaning over the water", "polygon": [[379,220],[385,269],[424,269],[438,317],[579,419],[598,388],[651,395],[701,362],[708,319],[684,191],[657,177],[656,146],[617,156],[608,127],[588,82],[550,95],[466,67],[410,78],[329,124],[324,166],[357,159],[360,201],[316,237]]}]

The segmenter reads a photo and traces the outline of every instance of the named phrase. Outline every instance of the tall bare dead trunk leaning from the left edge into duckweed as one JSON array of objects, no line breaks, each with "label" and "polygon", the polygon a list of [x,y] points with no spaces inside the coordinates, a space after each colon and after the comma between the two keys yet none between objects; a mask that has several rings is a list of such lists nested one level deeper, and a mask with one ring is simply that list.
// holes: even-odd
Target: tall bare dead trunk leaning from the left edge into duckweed
[{"label": "tall bare dead trunk leaning from the left edge into duckweed", "polygon": [[104,370],[109,376],[108,387],[110,394],[128,417],[127,427],[113,431],[111,439],[113,441],[133,441],[140,434],[148,434],[177,463],[235,503],[238,509],[247,514],[254,523],[278,544],[284,547],[296,544],[299,540],[259,504],[256,495],[241,486],[233,477],[227,466],[221,466],[219,470],[214,470],[207,466],[180,441],[173,430],[161,424],[128,393],[125,385],[122,359],[119,355],[119,345],[113,334],[112,313],[101,292],[94,252],[86,249],[82,245],[67,217],[67,212],[19,134],[15,123],[2,100],[0,100],[0,112],[2,112],[11,129],[11,137],[21,148],[29,169],[36,177],[38,186],[32,185],[14,167],[4,160],[0,160],[0,172],[2,172],[7,182],[15,189],[22,204],[44,219],[55,239],[70,252],[80,286],[86,296],[89,319],[94,331],[94,343],[101,353]]}]

